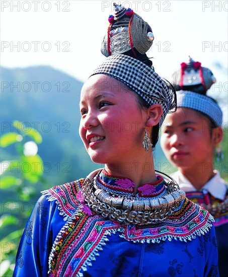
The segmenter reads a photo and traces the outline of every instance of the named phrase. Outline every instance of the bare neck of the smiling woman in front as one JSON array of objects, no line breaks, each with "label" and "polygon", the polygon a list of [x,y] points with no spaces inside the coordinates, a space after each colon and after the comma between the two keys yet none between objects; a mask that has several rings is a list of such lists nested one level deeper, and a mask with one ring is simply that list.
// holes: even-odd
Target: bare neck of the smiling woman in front
[{"label": "bare neck of the smiling woman in front", "polygon": [[141,184],[152,183],[157,181],[153,156],[149,156],[148,159],[144,159],[143,162],[134,160],[132,162],[106,164],[105,170],[113,176],[120,176],[130,179],[135,183],[135,191]]}]

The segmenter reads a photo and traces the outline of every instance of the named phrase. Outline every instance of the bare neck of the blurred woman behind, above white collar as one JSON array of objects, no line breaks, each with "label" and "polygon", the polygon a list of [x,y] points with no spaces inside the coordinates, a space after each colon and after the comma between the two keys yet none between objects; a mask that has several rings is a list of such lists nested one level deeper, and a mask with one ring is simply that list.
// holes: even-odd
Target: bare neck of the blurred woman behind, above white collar
[{"label": "bare neck of the blurred woman behind, above white collar", "polygon": [[178,170],[198,190],[200,190],[215,175],[212,162],[205,163],[204,167],[198,167],[194,170],[189,168],[178,168]]}]

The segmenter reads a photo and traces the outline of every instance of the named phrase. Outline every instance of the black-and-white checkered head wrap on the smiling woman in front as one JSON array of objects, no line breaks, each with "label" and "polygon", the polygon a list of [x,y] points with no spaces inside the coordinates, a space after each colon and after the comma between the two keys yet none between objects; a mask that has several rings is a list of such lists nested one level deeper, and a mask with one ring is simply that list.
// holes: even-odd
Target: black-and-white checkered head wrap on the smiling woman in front
[{"label": "black-and-white checkered head wrap on the smiling woman in front", "polygon": [[168,111],[176,108],[175,92],[167,83],[143,62],[127,55],[117,54],[106,58],[93,72],[93,75],[105,74],[127,85],[139,94],[149,105],[160,104],[163,114],[161,126]]}]

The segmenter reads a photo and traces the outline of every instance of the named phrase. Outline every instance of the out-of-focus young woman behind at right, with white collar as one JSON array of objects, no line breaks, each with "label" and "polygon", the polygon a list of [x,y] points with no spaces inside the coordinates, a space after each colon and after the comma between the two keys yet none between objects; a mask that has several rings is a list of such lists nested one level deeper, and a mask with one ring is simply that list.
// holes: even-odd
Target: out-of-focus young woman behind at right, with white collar
[{"label": "out-of-focus young woman behind at right, with white collar", "polygon": [[[172,177],[186,196],[202,205],[215,219],[220,276],[228,276],[228,189],[213,157],[222,140],[222,112],[206,91],[214,83],[212,73],[190,59],[174,74],[177,111],[164,123],[161,146],[178,171]],[[220,149],[218,149],[220,155]]]}]

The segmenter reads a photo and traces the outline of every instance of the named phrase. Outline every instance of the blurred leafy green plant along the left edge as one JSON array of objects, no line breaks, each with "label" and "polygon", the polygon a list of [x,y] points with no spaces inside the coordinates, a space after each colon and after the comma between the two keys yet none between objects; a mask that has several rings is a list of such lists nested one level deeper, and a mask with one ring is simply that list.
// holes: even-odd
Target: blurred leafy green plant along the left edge
[{"label": "blurred leafy green plant along the left edge", "polygon": [[[17,132],[5,133],[0,138],[1,148],[15,146],[16,150],[13,150],[13,159],[1,162],[0,189],[10,198],[1,199],[1,276],[13,273],[24,221],[32,211],[29,201],[36,193],[34,185],[42,181],[43,175],[43,161],[37,154],[37,144],[42,142],[41,134],[31,127],[25,129],[20,121],[14,121],[12,126]],[[17,198],[12,196],[15,192]],[[22,209],[25,205],[29,207],[26,213]]]}]

